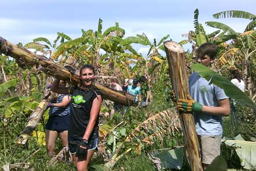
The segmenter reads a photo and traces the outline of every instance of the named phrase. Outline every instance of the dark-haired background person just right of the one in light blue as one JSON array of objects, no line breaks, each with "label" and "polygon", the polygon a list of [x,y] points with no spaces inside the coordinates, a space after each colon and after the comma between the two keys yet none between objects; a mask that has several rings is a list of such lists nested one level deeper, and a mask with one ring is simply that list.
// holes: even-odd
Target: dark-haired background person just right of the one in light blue
[{"label": "dark-haired background person just right of the one in light blue", "polygon": [[149,90],[148,87],[148,80],[145,76],[141,76],[140,79],[138,80],[140,82],[140,87],[141,87],[141,100],[142,100],[142,106],[148,106],[150,99],[149,96],[151,95],[151,91]]}]

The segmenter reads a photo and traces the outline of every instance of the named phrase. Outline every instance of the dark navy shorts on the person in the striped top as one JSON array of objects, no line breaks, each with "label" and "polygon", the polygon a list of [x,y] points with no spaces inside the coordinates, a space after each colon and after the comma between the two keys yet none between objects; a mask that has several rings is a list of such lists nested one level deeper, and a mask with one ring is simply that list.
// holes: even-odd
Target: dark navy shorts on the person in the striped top
[{"label": "dark navy shorts on the person in the striped top", "polygon": [[45,129],[50,131],[63,132],[70,127],[70,114],[67,116],[50,115],[45,125]]}]

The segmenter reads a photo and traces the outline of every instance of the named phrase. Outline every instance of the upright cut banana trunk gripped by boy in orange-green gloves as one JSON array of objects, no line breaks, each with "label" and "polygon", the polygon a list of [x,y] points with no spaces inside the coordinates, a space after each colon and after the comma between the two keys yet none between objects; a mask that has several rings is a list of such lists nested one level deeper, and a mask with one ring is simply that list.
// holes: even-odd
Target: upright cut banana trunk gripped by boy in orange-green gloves
[{"label": "upright cut banana trunk gripped by boy in orange-green gloves", "polygon": [[[185,53],[182,46],[173,41],[164,42],[171,83],[176,95],[176,99],[187,99],[188,76],[186,75]],[[178,111],[182,130],[185,137],[186,158],[191,170],[200,171],[202,169],[198,137],[195,130],[195,121],[192,113]]]}]

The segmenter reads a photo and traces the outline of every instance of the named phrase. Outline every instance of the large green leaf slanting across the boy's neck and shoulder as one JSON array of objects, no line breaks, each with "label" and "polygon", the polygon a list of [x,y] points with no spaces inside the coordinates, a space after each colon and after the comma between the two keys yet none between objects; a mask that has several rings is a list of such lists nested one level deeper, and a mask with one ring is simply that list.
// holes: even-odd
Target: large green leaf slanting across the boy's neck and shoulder
[{"label": "large green leaf slanting across the boy's neck and shoulder", "polygon": [[235,84],[231,83],[231,81],[221,76],[217,72],[214,72],[214,70],[203,66],[202,64],[193,64],[191,65],[191,68],[195,70],[195,72],[197,72],[201,77],[204,77],[204,79],[210,81],[209,84],[215,84],[222,88],[225,91],[225,94],[230,98],[236,99],[237,101],[253,108],[254,113],[256,114],[256,105],[254,102],[251,101],[251,99],[244,94],[243,91],[237,88]]}]

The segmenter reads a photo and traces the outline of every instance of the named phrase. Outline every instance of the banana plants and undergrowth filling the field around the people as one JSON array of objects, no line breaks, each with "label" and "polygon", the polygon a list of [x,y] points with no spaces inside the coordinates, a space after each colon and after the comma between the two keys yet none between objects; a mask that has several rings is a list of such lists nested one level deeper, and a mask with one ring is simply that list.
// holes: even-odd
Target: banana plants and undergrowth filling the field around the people
[{"label": "banana plants and undergrowth filling the field around the people", "polygon": [[[229,94],[234,98],[240,98],[240,102],[248,102],[253,106],[256,100],[255,16],[241,11],[230,11],[214,14],[214,17],[225,18],[225,13],[232,13],[229,15],[231,17],[247,18],[251,22],[245,27],[244,33],[238,33],[228,25],[209,21],[206,24],[217,28],[217,31],[206,34],[199,23],[199,10],[196,9],[195,31],[189,31],[188,39],[180,42],[192,44],[192,51],[186,52],[186,64],[191,66],[195,49],[200,44],[218,44],[219,53],[213,69],[228,80],[231,79],[231,69],[240,69],[246,82],[246,94],[241,92],[237,95],[235,90],[229,91]],[[110,167],[113,170],[157,170],[148,157],[149,153],[184,145],[184,137],[177,124],[178,119],[175,118],[175,103],[171,101],[169,66],[166,57],[160,53],[163,50],[163,41],[169,38],[169,35],[164,36],[158,43],[156,39],[149,40],[146,34],[125,38],[125,29],[120,28],[118,23],[105,31],[102,31],[102,24],[103,21],[100,19],[97,31],[82,29],[80,38],[71,39],[59,32],[53,43],[46,38],[36,38],[24,47],[34,49],[35,52],[41,51],[59,65],[68,63],[71,57],[76,61],[75,68],[84,63],[94,64],[97,67],[98,83],[107,86],[109,77],[116,77],[123,83],[127,78],[148,76],[152,103],[147,108],[123,107],[120,113],[116,112],[110,117],[105,113],[110,113],[113,104],[109,101],[103,102],[100,125],[104,136],[101,136],[101,148],[93,157],[90,170],[103,169],[104,165],[107,166],[106,163],[110,163],[111,158],[115,158]],[[133,43],[149,47],[147,55],[143,56],[134,50]],[[101,51],[104,51],[104,54],[101,54]],[[41,126],[38,125],[35,130],[37,133],[34,132],[34,136],[27,144],[14,144],[32,110],[41,101],[45,85],[51,78],[47,78],[39,66],[21,68],[17,61],[3,54],[0,54],[0,67],[0,166],[20,163],[21,169],[17,170],[23,170],[25,164],[34,170],[75,170],[73,163],[64,161],[48,166],[50,158],[47,157],[45,146],[42,144],[43,137],[39,135],[39,131],[43,131],[42,125],[47,117],[41,121]],[[192,68],[200,69],[195,65]],[[191,73],[190,69],[188,73]],[[225,88],[229,83],[226,80],[224,82]],[[231,115],[224,118],[223,135],[233,139],[240,134],[245,140],[254,141],[256,127],[253,110],[239,102],[235,107]],[[162,113],[167,109],[170,113]],[[170,124],[171,121],[175,123]],[[61,143],[58,141],[56,154],[60,150]],[[223,144],[221,154],[226,159],[228,168],[242,169],[235,148]],[[181,170],[188,169],[189,166],[184,162]]]}]

